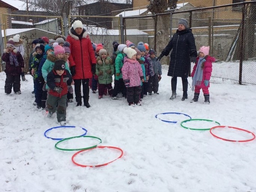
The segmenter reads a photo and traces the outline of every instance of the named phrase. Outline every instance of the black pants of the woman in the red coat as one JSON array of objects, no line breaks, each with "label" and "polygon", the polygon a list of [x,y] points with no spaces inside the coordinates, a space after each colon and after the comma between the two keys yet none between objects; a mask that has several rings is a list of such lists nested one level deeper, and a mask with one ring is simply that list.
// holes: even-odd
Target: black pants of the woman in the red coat
[{"label": "black pants of the woman in the red coat", "polygon": [[89,79],[74,79],[76,102],[82,101],[81,83],[83,86],[83,101],[89,101]]}]

